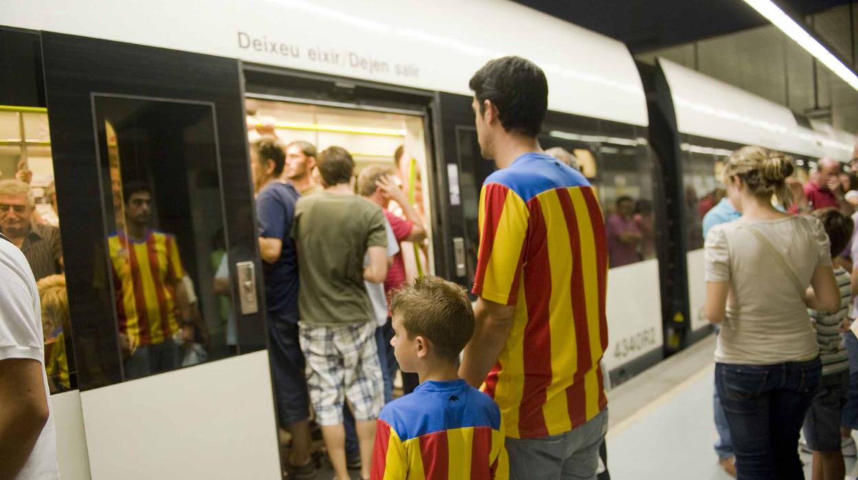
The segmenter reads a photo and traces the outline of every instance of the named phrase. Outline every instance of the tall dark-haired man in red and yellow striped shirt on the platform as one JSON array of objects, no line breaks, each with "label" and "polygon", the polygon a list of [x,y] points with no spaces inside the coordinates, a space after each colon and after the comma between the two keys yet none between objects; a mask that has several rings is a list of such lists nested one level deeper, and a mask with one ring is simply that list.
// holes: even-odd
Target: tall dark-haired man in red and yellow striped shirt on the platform
[{"label": "tall dark-haired man in red and yellow striped shirt on the platform", "polygon": [[460,373],[504,416],[511,478],[595,478],[607,433],[605,223],[587,179],[542,153],[547,81],[492,60],[470,81],[482,155],[479,295]]}]

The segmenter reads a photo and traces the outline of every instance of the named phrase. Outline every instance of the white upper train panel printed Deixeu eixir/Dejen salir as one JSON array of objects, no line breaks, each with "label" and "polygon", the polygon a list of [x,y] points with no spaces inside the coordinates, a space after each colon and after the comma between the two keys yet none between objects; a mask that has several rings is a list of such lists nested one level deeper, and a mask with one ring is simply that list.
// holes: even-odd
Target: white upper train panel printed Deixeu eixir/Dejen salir
[{"label": "white upper train panel printed Deixeu eixir/Dejen salir", "polygon": [[455,94],[487,60],[519,55],[545,70],[552,110],[649,124],[622,43],[507,0],[8,0],[0,12],[11,27]]}]

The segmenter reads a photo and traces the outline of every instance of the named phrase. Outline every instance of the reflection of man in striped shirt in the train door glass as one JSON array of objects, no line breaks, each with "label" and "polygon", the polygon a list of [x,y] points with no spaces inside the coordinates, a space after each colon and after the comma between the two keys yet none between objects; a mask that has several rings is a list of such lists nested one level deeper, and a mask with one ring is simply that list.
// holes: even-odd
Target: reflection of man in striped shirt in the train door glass
[{"label": "reflection of man in striped shirt in the train door glass", "polygon": [[139,181],[123,188],[124,231],[107,239],[116,291],[119,338],[125,379],[167,372],[179,366],[173,341],[194,335],[192,310],[184,289],[184,268],[176,238],[148,228],[152,191]]}]

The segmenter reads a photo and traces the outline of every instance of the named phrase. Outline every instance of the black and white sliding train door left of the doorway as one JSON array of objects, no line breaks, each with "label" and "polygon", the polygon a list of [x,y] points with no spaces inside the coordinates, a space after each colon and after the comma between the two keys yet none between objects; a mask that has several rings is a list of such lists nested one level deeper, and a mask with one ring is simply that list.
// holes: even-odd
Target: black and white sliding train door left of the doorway
[{"label": "black and white sliding train door left of the doorway", "polygon": [[41,45],[92,477],[280,478],[239,61]]}]

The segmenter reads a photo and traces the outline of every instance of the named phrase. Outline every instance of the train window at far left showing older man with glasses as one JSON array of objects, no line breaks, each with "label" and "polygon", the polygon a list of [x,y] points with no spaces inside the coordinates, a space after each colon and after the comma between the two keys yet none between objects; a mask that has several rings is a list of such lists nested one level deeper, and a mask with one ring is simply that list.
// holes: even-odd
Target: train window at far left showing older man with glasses
[{"label": "train window at far left showing older man with glasses", "polygon": [[45,108],[0,106],[0,231],[24,252],[39,288],[51,393],[77,388]]}]

